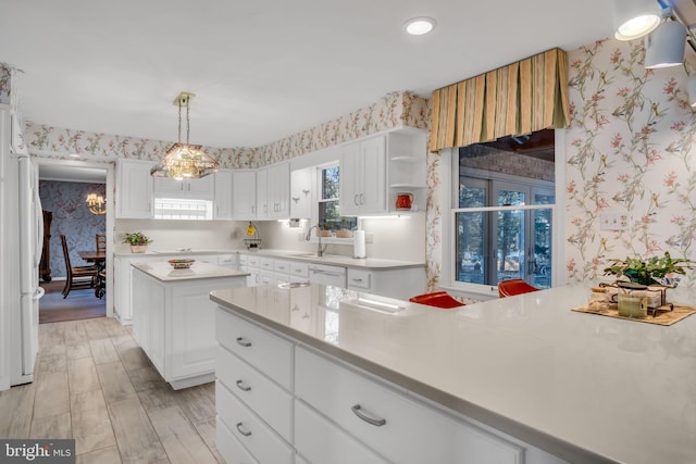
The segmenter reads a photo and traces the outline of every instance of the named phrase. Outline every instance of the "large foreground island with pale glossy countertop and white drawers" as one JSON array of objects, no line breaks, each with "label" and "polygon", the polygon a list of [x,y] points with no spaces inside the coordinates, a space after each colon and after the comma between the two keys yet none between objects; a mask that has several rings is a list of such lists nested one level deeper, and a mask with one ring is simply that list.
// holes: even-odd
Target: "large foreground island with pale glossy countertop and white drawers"
[{"label": "large foreground island with pale glossy countertop and white drawers", "polygon": [[[213,291],[219,448],[275,449],[273,462],[333,460],[323,442],[353,462],[696,462],[696,316],[571,311],[588,298],[574,285],[439,310],[319,285]],[[274,413],[246,397],[259,377],[283,399]],[[264,424],[283,440],[260,449],[246,434]]]}]

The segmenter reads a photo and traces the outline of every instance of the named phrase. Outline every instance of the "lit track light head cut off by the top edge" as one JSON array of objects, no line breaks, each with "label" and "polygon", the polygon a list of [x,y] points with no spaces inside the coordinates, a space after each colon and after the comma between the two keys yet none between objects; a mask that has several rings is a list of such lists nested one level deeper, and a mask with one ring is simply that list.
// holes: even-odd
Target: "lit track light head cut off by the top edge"
[{"label": "lit track light head cut off by the top edge", "polygon": [[661,4],[657,0],[613,0],[614,37],[633,40],[660,25]]}]

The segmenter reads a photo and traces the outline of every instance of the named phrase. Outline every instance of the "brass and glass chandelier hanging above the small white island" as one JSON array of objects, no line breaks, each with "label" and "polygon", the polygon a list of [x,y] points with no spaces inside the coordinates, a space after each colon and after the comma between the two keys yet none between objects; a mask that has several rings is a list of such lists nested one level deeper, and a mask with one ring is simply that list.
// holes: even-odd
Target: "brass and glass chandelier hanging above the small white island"
[{"label": "brass and glass chandelier hanging above the small white island", "polygon": [[[152,177],[173,177],[175,179],[200,178],[216,172],[220,163],[210,158],[200,145],[188,142],[188,108],[195,93],[181,92],[174,100],[178,105],[178,141],[166,150],[164,158],[150,170]],[[186,108],[186,143],[182,143],[182,108]]]}]

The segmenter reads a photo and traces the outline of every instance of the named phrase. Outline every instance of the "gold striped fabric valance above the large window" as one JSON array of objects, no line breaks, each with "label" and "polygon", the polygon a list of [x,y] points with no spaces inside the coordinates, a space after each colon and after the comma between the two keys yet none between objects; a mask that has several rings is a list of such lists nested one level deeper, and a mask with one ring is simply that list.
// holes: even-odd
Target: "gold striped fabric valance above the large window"
[{"label": "gold striped fabric valance above the large window", "polygon": [[568,55],[552,49],[433,92],[431,151],[570,125]]}]

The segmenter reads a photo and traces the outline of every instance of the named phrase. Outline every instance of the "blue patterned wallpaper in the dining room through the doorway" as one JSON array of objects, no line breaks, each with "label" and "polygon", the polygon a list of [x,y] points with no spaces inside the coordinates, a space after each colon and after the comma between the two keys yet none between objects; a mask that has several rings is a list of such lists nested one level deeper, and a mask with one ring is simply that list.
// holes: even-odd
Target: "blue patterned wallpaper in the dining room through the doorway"
[{"label": "blue patterned wallpaper in the dining room through the doorway", "polygon": [[39,181],[39,197],[45,211],[53,213],[51,221],[51,277],[65,277],[61,234],[65,235],[73,266],[87,265],[78,250],[95,250],[95,235],[104,234],[104,215],[89,212],[85,203],[88,193],[105,195],[103,184]]}]

